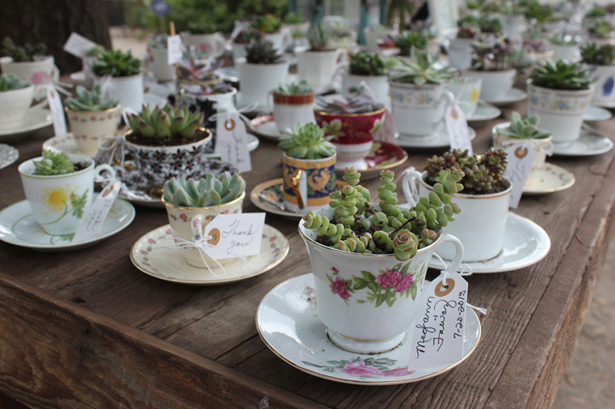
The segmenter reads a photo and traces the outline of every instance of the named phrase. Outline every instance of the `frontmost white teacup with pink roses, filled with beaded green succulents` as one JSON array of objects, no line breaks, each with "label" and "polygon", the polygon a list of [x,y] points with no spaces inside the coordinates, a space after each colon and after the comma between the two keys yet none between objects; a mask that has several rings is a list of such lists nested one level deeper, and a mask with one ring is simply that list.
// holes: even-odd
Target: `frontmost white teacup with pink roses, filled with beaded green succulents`
[{"label": "frontmost white teacup with pink roses, filled with beaded green succulents", "polygon": [[330,207],[309,212],[299,223],[316,284],[318,316],[337,346],[357,353],[395,348],[417,314],[433,252],[450,242],[457,250],[445,270],[455,272],[461,242],[443,234],[456,223],[451,195],[463,188],[456,172],[443,172],[429,196],[403,209],[397,204],[395,174],[380,173],[378,199],[347,169],[346,186],[330,195]]}]

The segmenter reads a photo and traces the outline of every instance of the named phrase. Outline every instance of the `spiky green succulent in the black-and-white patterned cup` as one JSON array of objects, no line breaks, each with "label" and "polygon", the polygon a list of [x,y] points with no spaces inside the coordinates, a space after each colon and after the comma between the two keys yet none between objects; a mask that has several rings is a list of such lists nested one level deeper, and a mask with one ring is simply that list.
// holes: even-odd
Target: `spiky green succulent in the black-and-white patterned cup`
[{"label": "spiky green succulent in the black-and-white patterned cup", "polygon": [[173,108],[171,105],[164,108],[143,105],[140,115],[127,116],[135,135],[146,139],[190,139],[203,122],[202,113],[191,113],[188,107]]}]

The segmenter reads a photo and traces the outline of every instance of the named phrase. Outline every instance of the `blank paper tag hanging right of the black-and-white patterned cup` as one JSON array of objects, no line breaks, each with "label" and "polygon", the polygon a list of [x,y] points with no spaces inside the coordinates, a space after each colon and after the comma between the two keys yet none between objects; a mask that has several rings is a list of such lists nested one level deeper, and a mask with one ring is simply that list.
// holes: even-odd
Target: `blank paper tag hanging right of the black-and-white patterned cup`
[{"label": "blank paper tag hanging right of the black-and-white patterned cup", "polygon": [[220,146],[220,157],[223,162],[232,163],[241,173],[252,170],[246,140],[246,125],[237,112],[218,116],[216,143]]}]

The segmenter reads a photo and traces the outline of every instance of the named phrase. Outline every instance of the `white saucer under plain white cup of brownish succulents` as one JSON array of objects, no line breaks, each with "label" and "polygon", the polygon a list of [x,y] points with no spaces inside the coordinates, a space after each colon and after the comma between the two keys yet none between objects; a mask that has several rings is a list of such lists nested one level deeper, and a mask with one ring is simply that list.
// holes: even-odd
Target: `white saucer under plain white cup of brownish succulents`
[{"label": "white saucer under plain white cup of brownish succulents", "polygon": [[[514,213],[508,213],[502,252],[487,261],[467,264],[474,273],[503,273],[538,263],[549,254],[551,239],[536,223]],[[429,267],[444,269],[437,257],[432,257]]]}]

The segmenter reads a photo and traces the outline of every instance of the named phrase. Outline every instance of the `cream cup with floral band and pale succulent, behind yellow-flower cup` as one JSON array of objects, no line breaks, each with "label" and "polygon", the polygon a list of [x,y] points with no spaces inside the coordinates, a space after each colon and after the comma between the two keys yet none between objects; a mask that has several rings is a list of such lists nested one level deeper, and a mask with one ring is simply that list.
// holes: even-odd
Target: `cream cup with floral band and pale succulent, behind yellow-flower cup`
[{"label": "cream cup with floral band and pale succulent, behind yellow-flower cup", "polygon": [[100,85],[91,91],[78,85],[76,98],[67,98],[66,116],[79,151],[94,156],[100,139],[113,136],[122,119],[118,100],[105,100]]}]

